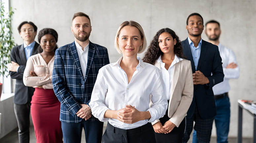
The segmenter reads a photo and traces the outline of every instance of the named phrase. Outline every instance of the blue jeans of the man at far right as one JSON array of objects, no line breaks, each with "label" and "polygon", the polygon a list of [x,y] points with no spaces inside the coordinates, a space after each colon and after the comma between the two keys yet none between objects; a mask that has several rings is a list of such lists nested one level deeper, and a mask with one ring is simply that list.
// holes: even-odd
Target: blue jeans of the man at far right
[{"label": "blue jeans of the man at far right", "polygon": [[[230,123],[230,102],[229,97],[215,100],[217,115],[215,116],[215,126],[217,133],[217,143],[227,143]],[[192,143],[198,143],[197,132],[193,133]]]}]

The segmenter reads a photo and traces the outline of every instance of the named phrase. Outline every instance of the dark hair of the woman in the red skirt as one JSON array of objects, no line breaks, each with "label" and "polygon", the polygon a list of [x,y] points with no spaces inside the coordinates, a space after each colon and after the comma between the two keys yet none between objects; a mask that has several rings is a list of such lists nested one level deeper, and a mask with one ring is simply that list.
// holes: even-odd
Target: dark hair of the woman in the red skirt
[{"label": "dark hair of the woman in the red skirt", "polygon": [[[43,36],[47,35],[47,34],[51,34],[52,36],[54,36],[55,41],[56,41],[56,43],[57,43],[57,41],[58,41],[58,34],[57,34],[57,32],[56,32],[54,29],[52,29],[52,28],[44,28],[44,29],[40,30],[39,33],[38,33],[38,42],[40,43],[41,38],[42,38]],[[56,45],[56,47],[54,48],[54,52],[55,52],[55,50],[56,50],[57,48],[58,48],[58,47],[57,47],[57,45]],[[43,52],[42,47],[39,46],[37,51],[38,51],[38,53],[42,53],[42,52]]]}]

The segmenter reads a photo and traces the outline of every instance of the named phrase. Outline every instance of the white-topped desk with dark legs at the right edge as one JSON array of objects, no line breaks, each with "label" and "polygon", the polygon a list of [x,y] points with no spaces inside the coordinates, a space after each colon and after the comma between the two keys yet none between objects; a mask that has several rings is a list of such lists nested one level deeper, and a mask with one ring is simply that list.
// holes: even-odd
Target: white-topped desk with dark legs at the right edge
[{"label": "white-topped desk with dark legs at the right edge", "polygon": [[250,104],[238,100],[238,143],[242,143],[242,115],[243,109],[253,115],[253,143],[256,143],[256,110]]}]

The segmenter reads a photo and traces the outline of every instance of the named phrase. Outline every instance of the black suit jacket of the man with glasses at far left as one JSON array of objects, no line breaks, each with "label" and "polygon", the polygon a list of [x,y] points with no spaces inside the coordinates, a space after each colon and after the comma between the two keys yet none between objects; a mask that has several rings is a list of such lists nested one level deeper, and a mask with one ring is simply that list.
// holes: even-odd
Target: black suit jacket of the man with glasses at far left
[{"label": "black suit jacket of the man with glasses at far left", "polygon": [[[38,46],[39,44],[36,42],[31,56],[37,54]],[[33,87],[25,86],[22,80],[23,72],[27,63],[23,44],[13,47],[11,51],[11,61],[17,62],[19,64],[18,72],[9,72],[11,78],[16,79],[13,102],[15,104],[26,104],[27,102],[31,101],[35,89]]]}]

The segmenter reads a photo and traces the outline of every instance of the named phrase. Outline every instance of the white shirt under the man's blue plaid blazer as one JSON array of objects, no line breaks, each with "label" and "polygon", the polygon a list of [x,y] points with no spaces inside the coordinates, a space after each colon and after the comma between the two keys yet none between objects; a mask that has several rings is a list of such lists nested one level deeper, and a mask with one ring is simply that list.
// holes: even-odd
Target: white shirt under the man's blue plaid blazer
[{"label": "white shirt under the man's blue plaid blazer", "polygon": [[80,61],[80,65],[81,65],[84,77],[85,77],[87,61],[88,61],[89,43],[85,46],[83,51],[82,47],[75,41],[76,50],[77,50],[77,54],[79,57],[79,61]]}]

